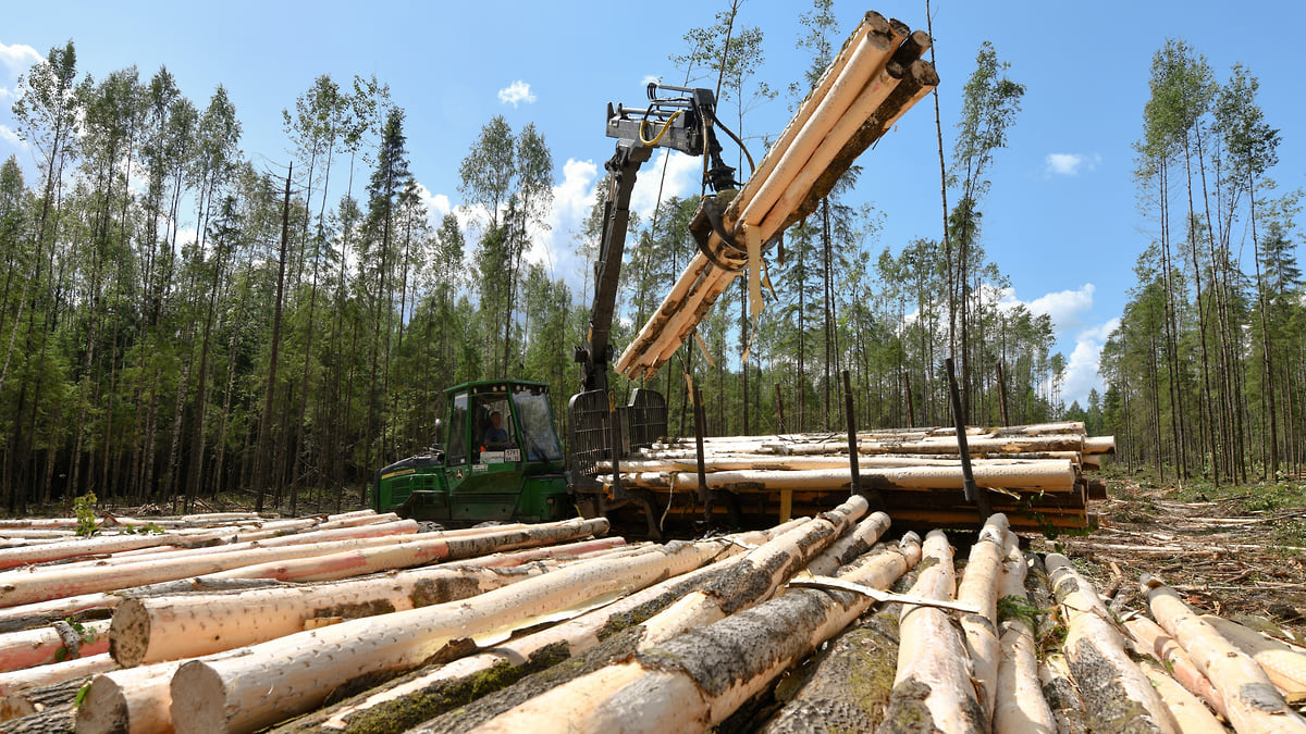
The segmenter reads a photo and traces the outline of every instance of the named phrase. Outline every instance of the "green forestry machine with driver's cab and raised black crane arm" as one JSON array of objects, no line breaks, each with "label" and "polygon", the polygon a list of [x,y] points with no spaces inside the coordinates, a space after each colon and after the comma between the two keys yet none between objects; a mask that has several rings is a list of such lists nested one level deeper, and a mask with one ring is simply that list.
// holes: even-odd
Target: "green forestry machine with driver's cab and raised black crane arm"
[{"label": "green forestry machine with driver's cab and raised black crane arm", "polygon": [[[670,95],[660,97],[660,91]],[[611,185],[594,263],[589,329],[585,343],[573,353],[581,367],[581,392],[568,404],[565,466],[545,384],[525,380],[465,383],[445,391],[448,419],[436,424],[443,443],[376,473],[374,508],[377,512],[398,512],[447,525],[473,525],[543,522],[576,513],[594,517],[633,505],[644,511],[649,534],[658,535],[657,516],[645,491],[624,490],[618,482],[609,494],[596,481],[599,461],[619,464],[622,456],[666,435],[666,400],[661,393],[635,389],[629,404],[619,406],[609,389],[613,360],[609,337],[629,225],[631,192],[640,166],[652,157],[654,148],[704,155],[709,163],[704,166],[704,179],[713,192],[738,184],[734,168],[721,159],[721,145],[713,129],[718,124],[716,98],[710,90],[650,84],[648,97],[649,104],[641,110],[607,106],[607,136],[616,138],[616,153],[606,163]],[[720,226],[712,210],[699,214]]]}]

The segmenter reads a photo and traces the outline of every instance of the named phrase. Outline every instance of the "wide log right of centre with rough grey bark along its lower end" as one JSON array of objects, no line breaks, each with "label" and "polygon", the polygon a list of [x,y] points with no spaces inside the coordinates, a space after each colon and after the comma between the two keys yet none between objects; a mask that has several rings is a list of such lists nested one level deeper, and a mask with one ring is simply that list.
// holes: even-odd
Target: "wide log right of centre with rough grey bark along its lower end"
[{"label": "wide log right of centre with rough grey bark along its lower end", "polygon": [[1170,709],[1124,652],[1124,640],[1107,622],[1110,613],[1093,585],[1060,554],[1047,554],[1046,564],[1053,593],[1066,618],[1063,649],[1084,696],[1089,726],[1107,731],[1126,726],[1177,731]]}]

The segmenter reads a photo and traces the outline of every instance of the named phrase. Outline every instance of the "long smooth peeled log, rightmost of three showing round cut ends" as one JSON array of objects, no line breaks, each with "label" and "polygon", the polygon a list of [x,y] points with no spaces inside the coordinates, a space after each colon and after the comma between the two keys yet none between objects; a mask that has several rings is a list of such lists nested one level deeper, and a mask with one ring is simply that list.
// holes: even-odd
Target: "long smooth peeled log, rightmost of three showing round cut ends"
[{"label": "long smooth peeled log, rightmost of three showing round cut ends", "polygon": [[[178,731],[249,731],[419,666],[454,640],[508,632],[533,618],[631,592],[701,566],[716,543],[667,546],[597,559],[460,602],[355,619],[218,653],[183,665],[172,679]],[[277,692],[268,696],[268,690]],[[185,717],[183,721],[180,717]]]}]

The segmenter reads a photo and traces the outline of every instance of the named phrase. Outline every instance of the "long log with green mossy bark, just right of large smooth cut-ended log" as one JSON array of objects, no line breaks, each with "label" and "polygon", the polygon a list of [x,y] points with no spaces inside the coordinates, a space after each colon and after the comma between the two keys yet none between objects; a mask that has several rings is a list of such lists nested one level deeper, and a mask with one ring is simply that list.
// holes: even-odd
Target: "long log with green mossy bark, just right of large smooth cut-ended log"
[{"label": "long log with green mossy bark, just right of large smooth cut-ended log", "polygon": [[[798,524],[793,521],[764,532],[717,538],[717,560],[697,571],[667,579],[576,619],[508,640],[479,654],[419,671],[302,717],[277,731],[398,733],[441,714],[445,714],[441,721],[448,721],[448,730],[465,731],[565,679],[605,666],[614,657],[633,654],[645,620],[712,579],[731,573],[742,559],[743,545],[764,543]],[[562,665],[564,661],[569,662]],[[447,713],[454,708],[456,713]]]}]

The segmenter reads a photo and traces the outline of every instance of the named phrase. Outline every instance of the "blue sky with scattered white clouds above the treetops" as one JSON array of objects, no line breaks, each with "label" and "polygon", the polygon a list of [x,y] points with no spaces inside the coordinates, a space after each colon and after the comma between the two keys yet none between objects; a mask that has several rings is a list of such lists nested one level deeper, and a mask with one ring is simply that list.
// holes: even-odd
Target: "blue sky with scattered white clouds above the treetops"
[{"label": "blue sky with scattered white clouds above the treetops", "polygon": [[[16,80],[38,55],[69,38],[78,71],[97,78],[132,64],[148,78],[166,64],[199,107],[225,85],[244,125],[246,155],[268,170],[289,159],[281,110],[293,107],[317,76],[347,82],[354,74],[376,74],[407,114],[410,170],[436,215],[458,206],[458,163],[491,116],[504,115],[515,131],[537,125],[552,150],[556,189],[552,230],[534,257],[579,282],[588,264],[572,253],[575,226],[613,152],[603,137],[605,104],[640,106],[650,77],[680,84],[682,72],[669,56],[686,52],[684,33],[710,25],[725,4],[665,0],[637,9],[589,0],[392,1],[366,10],[342,1],[8,4],[0,20],[0,157],[14,153],[31,168],[31,153],[12,133]],[[868,8],[913,29],[926,25],[923,0],[836,0],[840,33],[850,31]],[[1011,64],[1010,76],[1027,86],[1008,149],[991,168],[982,244],[1011,279],[1008,298],[1051,313],[1058,349],[1071,362],[1067,404],[1083,402],[1091,387],[1100,387],[1097,351],[1127,299],[1135,259],[1152,236],[1152,222],[1135,205],[1131,148],[1141,135],[1152,54],[1175,37],[1205,55],[1220,80],[1233,63],[1246,65],[1260,80],[1268,123],[1282,136],[1271,176],[1282,189],[1297,188],[1306,184],[1306,144],[1292,124],[1302,112],[1303,8],[1204,0],[931,3],[948,152],[960,90],[982,40],[994,43],[999,59]],[[788,86],[807,67],[795,48],[798,14],[807,9],[802,0],[743,4],[742,22],[765,33],[760,77],[774,88]],[[781,95],[750,110],[744,135],[776,135],[791,104]],[[760,148],[754,144],[755,155]],[[854,201],[884,213],[875,251],[938,236],[938,149],[929,99],[859,162],[866,172]],[[665,193],[696,192],[696,159],[673,161]],[[643,171],[637,208],[657,193],[653,171],[650,165]]]}]

